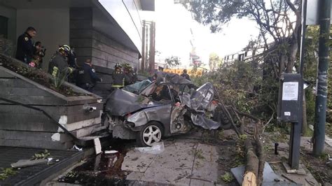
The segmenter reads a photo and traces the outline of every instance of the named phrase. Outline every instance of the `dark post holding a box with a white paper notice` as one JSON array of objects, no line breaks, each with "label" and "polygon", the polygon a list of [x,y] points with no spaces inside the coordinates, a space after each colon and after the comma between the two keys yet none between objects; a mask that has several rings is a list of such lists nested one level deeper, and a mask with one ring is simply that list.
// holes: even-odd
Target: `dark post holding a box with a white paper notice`
[{"label": "dark post holding a box with a white paper notice", "polygon": [[300,138],[303,122],[303,62],[305,52],[305,27],[307,20],[307,0],[302,1],[300,71],[283,74],[280,82],[282,97],[279,98],[278,120],[291,122],[289,139],[289,166],[298,169],[300,164]]}]

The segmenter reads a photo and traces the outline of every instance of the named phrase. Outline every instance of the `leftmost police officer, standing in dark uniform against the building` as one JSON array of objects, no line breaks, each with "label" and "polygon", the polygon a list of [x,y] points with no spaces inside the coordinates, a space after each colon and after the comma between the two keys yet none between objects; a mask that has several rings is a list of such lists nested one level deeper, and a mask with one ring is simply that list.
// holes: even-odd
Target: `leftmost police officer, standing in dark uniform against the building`
[{"label": "leftmost police officer, standing in dark uniform against the building", "polygon": [[29,64],[32,62],[34,52],[34,44],[32,38],[36,36],[36,29],[28,27],[25,33],[18,37],[18,44],[16,48],[16,59]]}]

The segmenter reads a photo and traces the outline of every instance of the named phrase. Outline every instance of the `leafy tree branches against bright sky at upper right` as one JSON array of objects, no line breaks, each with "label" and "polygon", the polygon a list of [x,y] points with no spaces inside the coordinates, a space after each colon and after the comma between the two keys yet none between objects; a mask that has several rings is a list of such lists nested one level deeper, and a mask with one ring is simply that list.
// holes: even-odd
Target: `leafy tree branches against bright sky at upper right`
[{"label": "leafy tree branches against bright sky at upper right", "polygon": [[277,77],[284,71],[291,72],[296,62],[300,38],[300,5],[299,0],[213,0],[184,4],[193,13],[195,20],[209,25],[212,32],[221,31],[223,25],[233,17],[254,20],[259,28],[257,40],[265,50],[261,57],[267,57],[273,52],[277,55],[276,60],[271,62],[277,69]]}]

